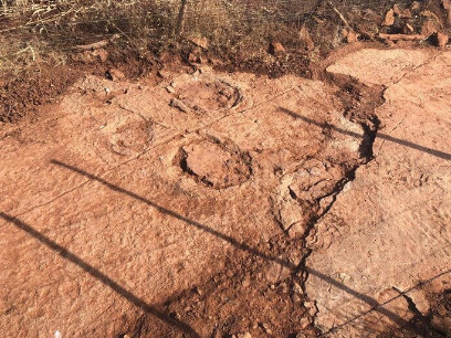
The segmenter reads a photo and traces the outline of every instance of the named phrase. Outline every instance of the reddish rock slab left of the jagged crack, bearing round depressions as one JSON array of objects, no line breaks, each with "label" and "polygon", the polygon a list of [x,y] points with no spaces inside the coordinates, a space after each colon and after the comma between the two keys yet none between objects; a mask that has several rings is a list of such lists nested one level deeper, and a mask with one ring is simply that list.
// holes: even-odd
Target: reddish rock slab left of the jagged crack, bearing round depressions
[{"label": "reddish rock slab left of the jagged crack, bearing round depressions", "polygon": [[[287,196],[284,176],[305,176],[315,158],[315,178],[293,184],[317,203],[322,186],[311,184],[361,160],[364,129],[343,117],[334,92],[207,68],[157,86],[86,76],[34,124],[2,129],[2,335],[117,337],[147,314],[161,319],[149,330],[211,336],[213,321],[196,334],[159,305],[284,235],[271,202]],[[276,282],[295,267],[268,261]]]}]

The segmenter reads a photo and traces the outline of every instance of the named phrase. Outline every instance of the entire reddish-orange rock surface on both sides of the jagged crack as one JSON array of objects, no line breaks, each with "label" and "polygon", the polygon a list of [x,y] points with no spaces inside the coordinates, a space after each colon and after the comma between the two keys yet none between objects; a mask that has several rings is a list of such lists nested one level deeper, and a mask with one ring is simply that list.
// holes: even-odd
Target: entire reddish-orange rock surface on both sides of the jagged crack
[{"label": "entire reddish-orange rock surface on both sides of the jagged crack", "polygon": [[77,78],[0,131],[1,331],[445,335],[450,57]]}]

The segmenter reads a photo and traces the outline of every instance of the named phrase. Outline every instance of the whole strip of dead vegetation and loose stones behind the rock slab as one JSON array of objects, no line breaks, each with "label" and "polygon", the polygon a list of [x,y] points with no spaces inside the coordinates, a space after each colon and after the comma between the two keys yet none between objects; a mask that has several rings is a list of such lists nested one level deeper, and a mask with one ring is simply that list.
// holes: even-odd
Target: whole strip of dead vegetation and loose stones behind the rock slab
[{"label": "whole strip of dead vegetation and loose stones behind the rock slab", "polygon": [[448,13],[447,1],[2,0],[0,67],[62,63],[76,45],[104,40],[143,55],[188,45],[264,64],[274,63],[268,51],[277,42],[280,63],[300,54],[315,60],[343,42],[402,40],[379,33],[426,39],[445,30]]}]

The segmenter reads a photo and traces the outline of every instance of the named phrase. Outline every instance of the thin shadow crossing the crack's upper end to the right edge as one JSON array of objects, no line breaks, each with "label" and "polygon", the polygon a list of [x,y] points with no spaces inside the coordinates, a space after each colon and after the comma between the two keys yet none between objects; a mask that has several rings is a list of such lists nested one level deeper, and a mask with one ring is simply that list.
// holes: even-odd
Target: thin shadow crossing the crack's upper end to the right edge
[{"label": "thin shadow crossing the crack's upper end to the right edge", "polygon": [[[357,133],[345,130],[345,129],[342,129],[342,128],[337,128],[335,126],[322,124],[322,123],[319,123],[317,120],[314,120],[312,118],[302,116],[302,115],[296,114],[296,113],[294,113],[294,112],[292,112],[290,109],[286,109],[284,107],[279,107],[279,109],[281,112],[290,115],[291,117],[302,119],[307,124],[312,124],[312,125],[315,125],[315,126],[321,127],[321,128],[328,127],[328,128],[331,128],[331,129],[333,129],[335,131],[338,131],[338,133],[347,135],[347,136],[353,136],[353,137],[358,137],[358,138],[361,137],[361,135],[359,135]],[[448,152],[443,152],[443,151],[440,151],[440,150],[423,147],[423,146],[420,146],[420,145],[417,145],[417,144],[413,144],[413,142],[410,142],[410,141],[407,141],[407,140],[403,140],[403,139],[400,139],[400,138],[396,138],[396,137],[392,137],[390,135],[381,134],[381,133],[377,133],[376,137],[379,137],[381,139],[385,139],[385,140],[388,140],[388,141],[391,141],[391,142],[395,142],[395,144],[398,144],[398,145],[401,145],[401,146],[405,146],[405,147],[409,147],[409,148],[412,148],[412,149],[416,149],[416,150],[419,150],[419,151],[423,151],[426,154],[436,156],[438,158],[442,158],[442,159],[445,159],[445,160],[451,160],[451,154],[448,154]]]}]

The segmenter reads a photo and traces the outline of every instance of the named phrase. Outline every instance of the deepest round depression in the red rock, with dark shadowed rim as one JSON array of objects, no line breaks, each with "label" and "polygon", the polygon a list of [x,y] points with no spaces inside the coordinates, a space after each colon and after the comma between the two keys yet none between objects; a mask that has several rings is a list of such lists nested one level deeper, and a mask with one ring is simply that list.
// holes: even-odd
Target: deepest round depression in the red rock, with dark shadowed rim
[{"label": "deepest round depression in the red rock, with dark shadowed rim", "polygon": [[204,140],[180,149],[183,172],[213,189],[239,186],[252,175],[251,157],[235,147]]}]

